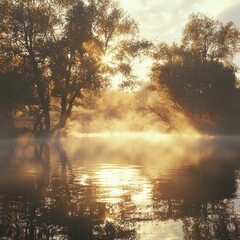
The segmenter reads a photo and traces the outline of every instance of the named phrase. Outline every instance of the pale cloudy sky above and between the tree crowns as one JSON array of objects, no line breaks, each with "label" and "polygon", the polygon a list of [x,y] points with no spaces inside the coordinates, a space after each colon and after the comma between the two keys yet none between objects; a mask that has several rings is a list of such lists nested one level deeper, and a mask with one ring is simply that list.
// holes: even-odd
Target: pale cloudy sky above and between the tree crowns
[{"label": "pale cloudy sky above and between the tree crowns", "polygon": [[[142,37],[169,44],[181,41],[191,13],[233,21],[240,28],[239,0],[120,0],[120,4],[139,22]],[[240,67],[240,54],[235,63]]]}]

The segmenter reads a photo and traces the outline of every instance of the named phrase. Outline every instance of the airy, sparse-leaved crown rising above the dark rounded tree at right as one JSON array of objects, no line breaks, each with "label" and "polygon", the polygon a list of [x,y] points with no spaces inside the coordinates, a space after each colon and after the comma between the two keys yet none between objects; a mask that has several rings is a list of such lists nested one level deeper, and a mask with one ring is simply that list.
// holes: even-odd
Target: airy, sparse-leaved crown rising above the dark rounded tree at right
[{"label": "airy, sparse-leaved crown rising above the dark rounded tree at right", "polygon": [[203,60],[232,63],[233,56],[240,50],[240,31],[233,22],[224,24],[202,13],[191,14],[182,43],[198,51]]}]

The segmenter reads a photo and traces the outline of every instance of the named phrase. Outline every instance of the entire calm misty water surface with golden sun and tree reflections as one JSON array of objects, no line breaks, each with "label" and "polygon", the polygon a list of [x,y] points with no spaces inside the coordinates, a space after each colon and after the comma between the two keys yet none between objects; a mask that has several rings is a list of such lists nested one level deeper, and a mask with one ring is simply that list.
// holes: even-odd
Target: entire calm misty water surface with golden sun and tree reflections
[{"label": "entire calm misty water surface with golden sun and tree reflections", "polygon": [[240,137],[1,141],[0,239],[240,239]]}]

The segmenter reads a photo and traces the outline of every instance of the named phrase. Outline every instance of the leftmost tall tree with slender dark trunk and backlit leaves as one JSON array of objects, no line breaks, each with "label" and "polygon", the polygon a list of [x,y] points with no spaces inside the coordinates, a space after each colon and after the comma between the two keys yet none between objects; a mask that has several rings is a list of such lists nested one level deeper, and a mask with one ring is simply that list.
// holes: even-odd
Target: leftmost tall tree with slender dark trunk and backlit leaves
[{"label": "leftmost tall tree with slender dark trunk and backlit leaves", "polygon": [[49,131],[48,56],[45,49],[46,43],[53,39],[57,23],[55,10],[50,1],[32,0],[4,0],[0,10],[3,17],[0,25],[2,61],[8,62],[8,68],[21,66],[20,72],[31,79],[31,85],[36,87],[45,129]]}]

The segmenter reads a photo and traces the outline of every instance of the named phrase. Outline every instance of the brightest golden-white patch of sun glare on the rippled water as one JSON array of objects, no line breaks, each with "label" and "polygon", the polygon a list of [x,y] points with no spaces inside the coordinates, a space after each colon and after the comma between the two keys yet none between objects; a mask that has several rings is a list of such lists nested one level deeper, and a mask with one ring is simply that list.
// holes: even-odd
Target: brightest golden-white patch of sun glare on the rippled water
[{"label": "brightest golden-white patch of sun glare on the rippled water", "polygon": [[101,165],[93,179],[93,183],[99,187],[99,201],[119,203],[125,199],[134,204],[151,203],[152,184],[137,168]]}]

